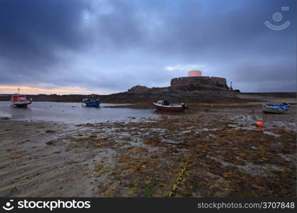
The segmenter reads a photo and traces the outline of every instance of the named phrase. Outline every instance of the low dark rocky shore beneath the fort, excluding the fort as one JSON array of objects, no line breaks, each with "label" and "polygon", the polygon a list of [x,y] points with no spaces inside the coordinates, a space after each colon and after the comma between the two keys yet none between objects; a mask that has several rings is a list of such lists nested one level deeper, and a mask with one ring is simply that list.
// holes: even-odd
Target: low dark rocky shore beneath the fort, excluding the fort
[{"label": "low dark rocky shore beneath the fort, excluding the fort", "polygon": [[[134,88],[134,89],[133,89]],[[239,103],[239,102],[259,102],[259,99],[294,99],[296,102],[296,92],[234,92],[228,89],[219,90],[179,90],[166,88],[147,88],[135,89],[132,87],[127,92],[116,94],[99,95],[99,94],[28,94],[33,102],[81,102],[84,98],[93,97],[102,99],[103,103],[114,104],[147,104],[156,102],[160,99],[167,99],[170,102],[184,102],[187,104],[197,103]],[[10,96],[0,96],[0,101],[10,101]]]}]

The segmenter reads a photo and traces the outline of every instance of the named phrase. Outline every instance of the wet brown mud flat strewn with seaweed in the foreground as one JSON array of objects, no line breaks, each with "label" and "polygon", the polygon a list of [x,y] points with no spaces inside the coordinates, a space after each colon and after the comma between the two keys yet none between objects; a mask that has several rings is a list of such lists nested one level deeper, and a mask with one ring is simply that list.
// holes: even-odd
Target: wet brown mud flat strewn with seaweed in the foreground
[{"label": "wet brown mud flat strewn with seaweed in the foreground", "polygon": [[0,196],[296,197],[296,106],[253,107],[76,125],[1,119]]}]

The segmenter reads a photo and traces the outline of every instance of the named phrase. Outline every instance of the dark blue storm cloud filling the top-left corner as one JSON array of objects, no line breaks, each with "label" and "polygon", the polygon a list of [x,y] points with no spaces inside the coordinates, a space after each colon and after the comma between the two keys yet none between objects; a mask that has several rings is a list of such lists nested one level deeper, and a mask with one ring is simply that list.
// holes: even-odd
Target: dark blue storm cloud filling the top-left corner
[{"label": "dark blue storm cloud filling the top-left corner", "polygon": [[78,29],[85,9],[88,5],[76,0],[1,0],[0,57],[23,65],[22,73],[26,65],[56,62],[57,49],[79,50],[86,42]]}]

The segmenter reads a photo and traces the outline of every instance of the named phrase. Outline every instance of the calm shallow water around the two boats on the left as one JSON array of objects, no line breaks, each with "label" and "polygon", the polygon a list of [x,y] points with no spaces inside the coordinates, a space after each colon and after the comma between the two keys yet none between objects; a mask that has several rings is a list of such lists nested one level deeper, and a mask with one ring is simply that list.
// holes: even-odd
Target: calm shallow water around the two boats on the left
[{"label": "calm shallow water around the two boats on the left", "polygon": [[100,104],[100,108],[82,107],[81,103],[33,102],[28,108],[11,107],[0,102],[0,116],[24,121],[54,121],[86,124],[103,121],[127,121],[159,118],[155,109],[109,108],[123,104]]}]

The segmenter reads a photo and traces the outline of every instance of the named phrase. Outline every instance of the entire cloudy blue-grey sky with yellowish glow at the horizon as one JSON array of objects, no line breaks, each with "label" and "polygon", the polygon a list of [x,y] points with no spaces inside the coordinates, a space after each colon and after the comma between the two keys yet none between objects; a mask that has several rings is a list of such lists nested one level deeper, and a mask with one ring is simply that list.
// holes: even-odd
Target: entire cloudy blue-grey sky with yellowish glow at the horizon
[{"label": "entire cloudy blue-grey sky with yellowish glow at the horizon", "polygon": [[0,0],[0,93],[110,94],[189,70],[296,92],[296,0]]}]

